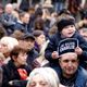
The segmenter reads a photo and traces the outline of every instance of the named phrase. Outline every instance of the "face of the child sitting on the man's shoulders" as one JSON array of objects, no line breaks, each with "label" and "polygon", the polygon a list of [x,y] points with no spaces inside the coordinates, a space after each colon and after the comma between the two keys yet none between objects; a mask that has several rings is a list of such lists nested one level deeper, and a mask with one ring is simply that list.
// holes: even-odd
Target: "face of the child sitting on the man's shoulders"
[{"label": "face of the child sitting on the man's shoulders", "polygon": [[65,38],[72,37],[74,35],[74,33],[75,33],[75,26],[74,25],[67,25],[61,32],[62,36]]}]

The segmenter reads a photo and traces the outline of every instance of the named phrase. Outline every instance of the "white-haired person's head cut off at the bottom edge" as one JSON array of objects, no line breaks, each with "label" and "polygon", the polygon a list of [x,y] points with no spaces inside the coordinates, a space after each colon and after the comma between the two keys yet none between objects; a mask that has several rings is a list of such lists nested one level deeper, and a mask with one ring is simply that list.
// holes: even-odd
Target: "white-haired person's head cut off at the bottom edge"
[{"label": "white-haired person's head cut off at the bottom edge", "polygon": [[59,77],[51,67],[35,69],[28,78],[26,87],[62,87],[59,86]]}]

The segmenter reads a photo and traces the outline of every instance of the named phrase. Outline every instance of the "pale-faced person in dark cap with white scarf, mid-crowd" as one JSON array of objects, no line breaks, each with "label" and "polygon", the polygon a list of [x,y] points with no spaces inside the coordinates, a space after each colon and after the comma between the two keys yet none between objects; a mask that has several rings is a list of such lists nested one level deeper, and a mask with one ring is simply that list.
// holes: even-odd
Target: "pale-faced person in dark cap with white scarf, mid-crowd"
[{"label": "pale-faced person in dark cap with white scarf, mid-crowd", "polygon": [[42,30],[34,30],[34,36],[35,36],[35,49],[39,53],[39,57],[34,61],[34,64],[36,66],[37,61],[37,63],[39,63],[40,66],[47,66],[49,65],[49,62],[45,58],[45,49],[47,48],[49,40],[46,40],[46,36]]}]

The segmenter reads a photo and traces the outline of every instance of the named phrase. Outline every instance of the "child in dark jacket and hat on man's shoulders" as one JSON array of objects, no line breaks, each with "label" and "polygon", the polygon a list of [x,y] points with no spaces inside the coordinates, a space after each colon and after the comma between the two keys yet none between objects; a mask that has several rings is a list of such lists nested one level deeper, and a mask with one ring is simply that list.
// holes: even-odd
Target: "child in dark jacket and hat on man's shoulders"
[{"label": "child in dark jacket and hat on man's shoulders", "polygon": [[74,17],[63,14],[58,18],[57,26],[59,32],[50,38],[50,42],[48,44],[45,53],[46,59],[50,61],[50,65],[57,66],[58,64],[59,42],[66,38],[75,38],[78,40],[78,47],[75,48],[75,52],[78,54],[80,65],[86,69],[85,61],[87,61],[87,42],[76,32]]}]

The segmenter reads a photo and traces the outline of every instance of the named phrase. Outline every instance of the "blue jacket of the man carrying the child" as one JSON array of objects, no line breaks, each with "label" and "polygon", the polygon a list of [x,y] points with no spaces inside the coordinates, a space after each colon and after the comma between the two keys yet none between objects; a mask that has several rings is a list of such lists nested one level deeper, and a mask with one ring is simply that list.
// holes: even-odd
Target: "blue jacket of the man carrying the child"
[{"label": "blue jacket of the man carrying the child", "polygon": [[[59,73],[59,69],[55,70],[58,75],[59,75],[59,78],[60,78],[60,83],[65,85],[64,83],[62,83],[63,80],[64,82],[67,82],[65,80],[64,78],[61,79],[61,72]],[[87,71],[84,70],[82,66],[78,66],[78,70],[76,71],[75,75],[74,75],[74,80],[72,83],[69,83],[69,84],[72,84],[73,87],[87,87]],[[71,78],[72,79],[72,78]],[[71,80],[70,79],[70,80]],[[69,86],[69,85],[65,85],[65,86]],[[72,87],[72,86],[71,86]]]}]

